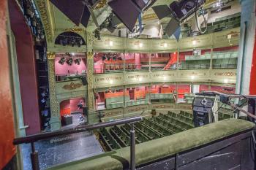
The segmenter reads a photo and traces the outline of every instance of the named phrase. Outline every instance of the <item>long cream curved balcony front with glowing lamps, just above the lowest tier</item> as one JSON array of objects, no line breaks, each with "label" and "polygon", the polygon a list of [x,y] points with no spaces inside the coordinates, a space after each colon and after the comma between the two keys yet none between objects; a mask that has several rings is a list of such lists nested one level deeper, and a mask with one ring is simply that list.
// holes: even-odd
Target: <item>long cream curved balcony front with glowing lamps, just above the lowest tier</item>
[{"label": "long cream curved balcony front with glowing lamps, just above the lowest tier", "polygon": [[[211,82],[236,83],[236,69],[197,69],[169,70],[157,72],[123,72],[94,74],[94,89],[116,88],[121,86],[145,85],[147,83]],[[95,90],[97,91],[97,90]]]}]

